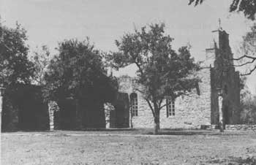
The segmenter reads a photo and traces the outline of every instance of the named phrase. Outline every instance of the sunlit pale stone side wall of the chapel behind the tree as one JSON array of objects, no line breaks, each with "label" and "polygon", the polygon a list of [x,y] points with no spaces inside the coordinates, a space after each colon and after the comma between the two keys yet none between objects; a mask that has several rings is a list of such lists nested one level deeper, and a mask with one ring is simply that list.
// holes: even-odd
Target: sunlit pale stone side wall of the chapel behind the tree
[{"label": "sunlit pale stone side wall of the chapel behind the tree", "polygon": [[[175,115],[167,117],[166,107],[160,112],[160,128],[200,128],[201,125],[211,124],[211,86],[210,69],[202,69],[198,72],[202,81],[199,83],[200,95],[196,89],[191,96],[180,96],[175,101]],[[131,77],[119,79],[121,92],[135,92],[134,81]],[[134,128],[152,128],[154,126],[153,115],[148,103],[138,93],[138,116],[132,117]],[[165,101],[163,101],[165,104]]]}]

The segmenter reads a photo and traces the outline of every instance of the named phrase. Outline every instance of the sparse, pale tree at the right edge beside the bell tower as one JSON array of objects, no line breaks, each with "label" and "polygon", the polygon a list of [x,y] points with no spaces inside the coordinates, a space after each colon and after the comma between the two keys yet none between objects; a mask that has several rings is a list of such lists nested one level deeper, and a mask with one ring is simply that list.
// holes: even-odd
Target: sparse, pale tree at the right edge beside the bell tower
[{"label": "sparse, pale tree at the right edge beside the bell tower", "polygon": [[233,58],[233,60],[238,61],[235,66],[249,66],[249,71],[242,75],[249,75],[256,69],[256,23],[252,26],[251,31],[248,31],[243,37],[243,42],[239,49],[238,58]]}]

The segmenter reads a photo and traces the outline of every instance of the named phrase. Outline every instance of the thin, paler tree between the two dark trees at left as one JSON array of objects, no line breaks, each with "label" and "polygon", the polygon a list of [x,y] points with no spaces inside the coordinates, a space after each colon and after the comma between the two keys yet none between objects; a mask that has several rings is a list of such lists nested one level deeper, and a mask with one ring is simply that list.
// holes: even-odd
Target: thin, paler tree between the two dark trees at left
[{"label": "thin, paler tree between the two dark trees at left", "polygon": [[34,64],[34,78],[33,82],[37,85],[45,85],[45,73],[50,64],[50,51],[46,45],[42,45],[31,56],[30,61]]}]

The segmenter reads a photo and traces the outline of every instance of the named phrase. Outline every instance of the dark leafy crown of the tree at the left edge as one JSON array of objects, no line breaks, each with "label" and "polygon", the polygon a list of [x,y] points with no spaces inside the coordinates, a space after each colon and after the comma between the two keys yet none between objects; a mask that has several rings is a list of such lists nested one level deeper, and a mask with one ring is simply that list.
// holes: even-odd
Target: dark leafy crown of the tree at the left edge
[{"label": "dark leafy crown of the tree at the left edge", "polygon": [[28,60],[26,30],[0,26],[0,81],[7,86],[28,84],[33,76],[34,64]]}]

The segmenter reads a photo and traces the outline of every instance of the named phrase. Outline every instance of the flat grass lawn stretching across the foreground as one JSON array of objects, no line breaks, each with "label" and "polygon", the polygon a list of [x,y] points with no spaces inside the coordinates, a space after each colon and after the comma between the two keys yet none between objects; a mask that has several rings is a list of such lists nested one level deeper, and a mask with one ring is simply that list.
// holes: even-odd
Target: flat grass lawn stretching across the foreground
[{"label": "flat grass lawn stretching across the foreground", "polygon": [[54,131],[1,134],[11,164],[256,164],[255,132]]}]

